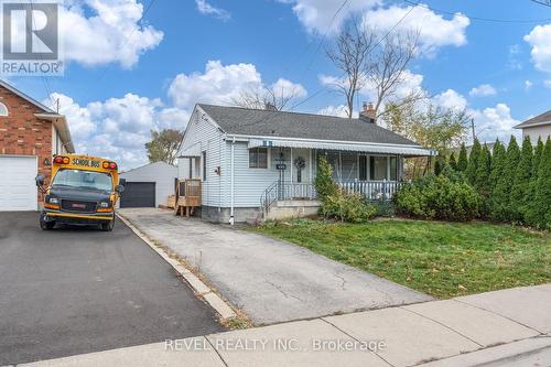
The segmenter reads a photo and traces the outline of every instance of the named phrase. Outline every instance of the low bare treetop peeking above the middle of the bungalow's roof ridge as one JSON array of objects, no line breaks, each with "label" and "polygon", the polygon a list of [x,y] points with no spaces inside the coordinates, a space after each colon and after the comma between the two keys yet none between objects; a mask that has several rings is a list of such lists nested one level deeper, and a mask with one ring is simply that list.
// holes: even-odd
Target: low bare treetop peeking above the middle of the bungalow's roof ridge
[{"label": "low bare treetop peeking above the middle of the bungalow's roof ridge", "polygon": [[289,109],[290,101],[295,99],[301,91],[301,88],[294,85],[291,87],[261,86],[242,90],[238,97],[233,98],[231,102],[244,108],[282,111]]}]

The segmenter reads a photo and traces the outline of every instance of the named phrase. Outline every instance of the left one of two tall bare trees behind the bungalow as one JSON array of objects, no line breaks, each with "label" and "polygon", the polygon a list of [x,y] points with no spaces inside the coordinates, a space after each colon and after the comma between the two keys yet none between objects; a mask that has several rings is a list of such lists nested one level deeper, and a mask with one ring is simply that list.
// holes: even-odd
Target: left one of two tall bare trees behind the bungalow
[{"label": "left one of two tall bare trees behind the bungalow", "polygon": [[325,52],[333,65],[344,74],[343,79],[336,80],[334,86],[346,99],[346,114],[349,118],[354,112],[356,94],[368,82],[368,56],[375,42],[375,32],[352,18],[338,34],[334,46]]}]

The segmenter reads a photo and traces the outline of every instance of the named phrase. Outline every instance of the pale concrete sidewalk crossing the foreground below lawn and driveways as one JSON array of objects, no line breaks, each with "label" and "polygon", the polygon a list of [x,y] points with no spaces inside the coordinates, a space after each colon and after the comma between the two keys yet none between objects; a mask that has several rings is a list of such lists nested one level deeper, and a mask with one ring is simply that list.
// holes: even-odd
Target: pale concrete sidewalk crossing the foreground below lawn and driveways
[{"label": "pale concrete sidewalk crossing the foreground below lawn and driveways", "polygon": [[544,284],[24,366],[549,366],[550,307]]}]

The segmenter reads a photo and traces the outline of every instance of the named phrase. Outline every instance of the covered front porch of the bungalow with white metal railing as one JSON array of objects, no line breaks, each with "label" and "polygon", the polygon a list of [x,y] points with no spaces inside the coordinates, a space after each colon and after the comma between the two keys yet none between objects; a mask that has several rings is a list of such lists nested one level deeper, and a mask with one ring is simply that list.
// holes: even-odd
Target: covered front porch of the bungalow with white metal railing
[{"label": "covered front porch of the bungalow with white metal railing", "polygon": [[[334,151],[305,148],[253,148],[249,149],[249,162],[259,161],[260,165],[271,163],[279,171],[279,179],[268,186],[260,198],[263,213],[270,212],[280,203],[302,202],[304,207],[316,201],[314,180],[317,164],[322,158],[333,166],[333,180],[345,191],[363,195],[369,201],[391,199],[406,184],[402,154],[370,152]],[[295,207],[293,205],[284,206]]]}]

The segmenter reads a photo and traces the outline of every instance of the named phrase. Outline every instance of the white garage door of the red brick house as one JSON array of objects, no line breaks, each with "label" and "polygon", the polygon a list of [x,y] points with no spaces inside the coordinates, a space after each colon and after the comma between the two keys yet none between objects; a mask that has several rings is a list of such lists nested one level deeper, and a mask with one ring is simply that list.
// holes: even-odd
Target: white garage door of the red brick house
[{"label": "white garage door of the red brick house", "polygon": [[36,156],[0,155],[0,211],[36,211]]}]

